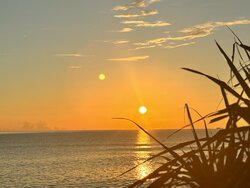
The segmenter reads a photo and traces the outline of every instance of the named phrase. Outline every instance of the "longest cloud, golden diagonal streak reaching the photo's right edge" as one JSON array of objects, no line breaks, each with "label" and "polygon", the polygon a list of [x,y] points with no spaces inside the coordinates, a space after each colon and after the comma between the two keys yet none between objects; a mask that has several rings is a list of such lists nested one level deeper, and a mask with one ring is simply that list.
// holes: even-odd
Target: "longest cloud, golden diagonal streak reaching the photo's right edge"
[{"label": "longest cloud, golden diagonal streak reaching the photo's right edge", "polygon": [[[135,49],[145,49],[152,47],[164,47],[164,48],[174,48],[185,45],[191,45],[191,43],[183,43],[176,45],[168,45],[169,42],[178,42],[178,41],[189,41],[197,38],[207,37],[213,32],[223,26],[233,26],[233,25],[243,25],[250,24],[250,20],[235,20],[235,21],[227,21],[227,22],[207,22],[203,24],[194,25],[192,27],[184,28],[179,31],[181,35],[179,36],[168,36],[168,37],[160,37],[156,39],[146,40],[140,43],[134,43],[137,46]],[[167,43],[167,44],[166,44]]]}]

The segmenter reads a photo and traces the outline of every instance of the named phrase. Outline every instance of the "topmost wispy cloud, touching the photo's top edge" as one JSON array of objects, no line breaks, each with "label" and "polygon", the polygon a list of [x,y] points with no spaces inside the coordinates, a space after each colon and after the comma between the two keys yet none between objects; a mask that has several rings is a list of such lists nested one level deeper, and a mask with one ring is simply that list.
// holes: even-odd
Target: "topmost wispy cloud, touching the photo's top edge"
[{"label": "topmost wispy cloud, touching the photo's top edge", "polygon": [[133,8],[146,8],[152,3],[158,2],[158,0],[135,0],[127,5],[116,6],[114,11],[127,11]]}]

